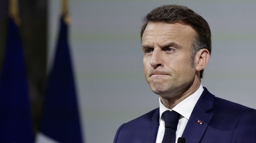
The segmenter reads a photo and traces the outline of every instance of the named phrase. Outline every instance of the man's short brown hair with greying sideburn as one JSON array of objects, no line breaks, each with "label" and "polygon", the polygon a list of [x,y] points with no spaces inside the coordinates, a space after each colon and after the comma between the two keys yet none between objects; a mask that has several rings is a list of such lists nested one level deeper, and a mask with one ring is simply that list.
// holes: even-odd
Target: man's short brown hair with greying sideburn
[{"label": "man's short brown hair with greying sideburn", "polygon": [[[191,43],[191,60],[190,64],[193,67],[196,52],[200,49],[207,49],[211,54],[211,30],[209,24],[202,16],[193,10],[179,5],[163,5],[150,11],[142,20],[140,39],[149,22],[153,23],[179,23],[191,26],[195,32],[196,37]],[[203,70],[200,71],[200,78],[203,78]]]}]

